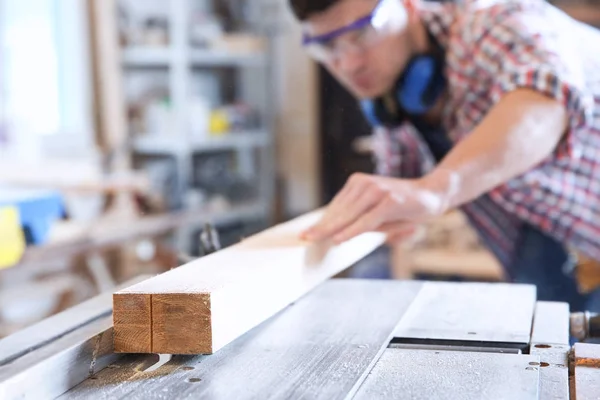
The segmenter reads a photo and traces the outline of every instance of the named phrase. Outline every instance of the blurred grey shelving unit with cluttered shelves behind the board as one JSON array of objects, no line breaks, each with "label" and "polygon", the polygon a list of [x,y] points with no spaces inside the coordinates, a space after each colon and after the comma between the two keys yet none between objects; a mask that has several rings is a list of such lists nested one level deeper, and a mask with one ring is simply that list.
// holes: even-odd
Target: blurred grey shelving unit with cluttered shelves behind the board
[{"label": "blurred grey shelving unit with cluttered shelves behind the board", "polygon": [[[165,106],[169,110],[168,124],[161,124],[162,129],[145,127],[141,130],[145,133],[136,132],[130,127],[129,142],[132,155],[142,160],[141,164],[155,162],[159,158],[175,165],[175,197],[179,201],[171,207],[185,215],[202,216],[189,218],[189,224],[179,231],[178,246],[185,250],[190,248],[193,232],[204,222],[251,221],[263,226],[273,222],[275,124],[270,101],[276,90],[271,73],[275,59],[274,37],[260,17],[264,14],[263,7],[268,6],[268,0],[238,1],[240,7],[246,7],[249,15],[255,16],[255,20],[244,21],[245,31],[232,29],[231,26],[224,28],[222,37],[246,37],[253,39],[253,44],[262,43],[262,47],[245,46],[244,42],[241,45],[239,42],[231,44],[226,40],[217,40],[208,46],[194,46],[191,40],[193,11],[203,8],[210,12],[217,3],[212,0],[119,0],[120,11],[126,12],[129,22],[144,17],[166,21],[164,45],[131,44],[126,40],[122,47],[121,65],[129,102],[155,91],[163,93],[165,104],[168,104]],[[235,3],[235,0],[228,2],[230,7]],[[223,4],[219,4],[219,7],[223,7]],[[146,15],[140,15],[140,12]],[[218,95],[214,96],[215,93]],[[211,95],[217,98],[211,98]],[[203,104],[210,104],[211,111],[231,104],[231,100],[242,101],[258,115],[259,122],[218,133],[213,129],[211,133],[207,121],[206,132],[199,132],[198,126],[193,129],[191,125],[193,117],[198,116],[196,109],[193,109],[193,100],[199,97],[204,97],[206,103]],[[131,109],[128,113],[131,115]],[[214,157],[215,154],[230,157],[235,165],[232,174],[245,184],[257,188],[258,196],[253,201],[231,202],[229,207],[223,206],[221,201],[217,202],[219,206],[216,209],[210,202],[201,206],[186,204],[190,192],[203,190],[194,184],[198,159]]]}]

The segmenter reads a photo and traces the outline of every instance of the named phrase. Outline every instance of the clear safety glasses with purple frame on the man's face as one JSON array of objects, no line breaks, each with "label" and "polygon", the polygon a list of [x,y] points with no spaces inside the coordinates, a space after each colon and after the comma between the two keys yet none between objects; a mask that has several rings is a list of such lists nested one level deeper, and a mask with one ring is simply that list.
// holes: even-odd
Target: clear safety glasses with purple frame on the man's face
[{"label": "clear safety glasses with purple frame on the man's face", "polygon": [[317,36],[305,32],[302,45],[315,60],[330,63],[345,52],[363,52],[376,45],[404,29],[406,21],[402,0],[380,0],[370,14],[346,26]]}]

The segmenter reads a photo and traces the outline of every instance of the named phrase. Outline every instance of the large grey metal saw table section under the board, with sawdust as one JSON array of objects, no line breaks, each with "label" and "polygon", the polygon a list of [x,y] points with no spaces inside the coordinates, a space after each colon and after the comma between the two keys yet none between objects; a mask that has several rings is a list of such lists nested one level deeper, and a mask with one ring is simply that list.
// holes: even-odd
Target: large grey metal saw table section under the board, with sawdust
[{"label": "large grey metal saw table section under the board, with sawdust", "polygon": [[123,359],[61,399],[344,399],[385,349],[419,282],[333,279],[221,351],[155,372]]}]

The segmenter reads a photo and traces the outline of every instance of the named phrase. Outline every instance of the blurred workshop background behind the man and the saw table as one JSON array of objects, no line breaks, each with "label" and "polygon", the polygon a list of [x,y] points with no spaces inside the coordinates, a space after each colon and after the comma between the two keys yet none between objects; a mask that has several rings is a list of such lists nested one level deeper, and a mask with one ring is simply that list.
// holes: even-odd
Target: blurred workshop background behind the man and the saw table
[{"label": "blurred workshop background behind the man and the saw table", "polygon": [[[600,26],[600,2],[561,0]],[[0,0],[0,337],[370,172],[287,0]],[[462,215],[347,276],[502,280]]]}]

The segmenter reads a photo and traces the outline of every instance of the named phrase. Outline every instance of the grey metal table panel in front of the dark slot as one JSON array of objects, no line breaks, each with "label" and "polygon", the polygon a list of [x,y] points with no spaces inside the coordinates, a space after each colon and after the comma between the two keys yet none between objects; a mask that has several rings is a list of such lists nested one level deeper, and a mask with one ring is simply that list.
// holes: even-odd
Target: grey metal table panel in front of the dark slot
[{"label": "grey metal table panel in front of the dark slot", "polygon": [[531,355],[387,349],[355,400],[537,400]]}]

